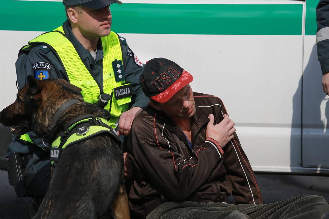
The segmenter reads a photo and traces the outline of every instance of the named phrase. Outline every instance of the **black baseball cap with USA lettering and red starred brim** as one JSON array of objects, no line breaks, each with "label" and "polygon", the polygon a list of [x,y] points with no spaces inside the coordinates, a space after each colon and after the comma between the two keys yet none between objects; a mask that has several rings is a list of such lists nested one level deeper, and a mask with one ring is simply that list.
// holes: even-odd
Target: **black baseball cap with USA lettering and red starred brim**
[{"label": "black baseball cap with USA lettering and red starred brim", "polygon": [[139,78],[144,94],[160,103],[168,101],[192,81],[190,73],[165,58],[153,58],[146,62]]}]

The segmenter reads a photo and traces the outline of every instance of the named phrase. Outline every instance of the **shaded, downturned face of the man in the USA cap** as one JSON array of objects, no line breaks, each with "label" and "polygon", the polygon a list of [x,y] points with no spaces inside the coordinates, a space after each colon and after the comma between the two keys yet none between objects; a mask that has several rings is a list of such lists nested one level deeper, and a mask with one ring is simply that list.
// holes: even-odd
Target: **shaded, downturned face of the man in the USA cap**
[{"label": "shaded, downturned face of the man in the USA cap", "polygon": [[170,118],[191,118],[195,113],[195,102],[190,84],[185,85],[165,103],[159,103],[161,110]]}]

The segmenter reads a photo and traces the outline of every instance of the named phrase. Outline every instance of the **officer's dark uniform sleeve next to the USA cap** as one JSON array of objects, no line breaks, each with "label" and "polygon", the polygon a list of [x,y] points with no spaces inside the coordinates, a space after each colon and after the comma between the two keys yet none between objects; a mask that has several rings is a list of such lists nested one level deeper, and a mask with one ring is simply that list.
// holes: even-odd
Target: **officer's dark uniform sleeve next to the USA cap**
[{"label": "officer's dark uniform sleeve next to the USA cap", "polygon": [[[119,37],[120,38],[120,37]],[[127,43],[125,43],[127,44]],[[139,85],[139,77],[142,74],[144,67],[140,67],[136,64],[134,53],[131,52],[128,55],[129,49],[128,45],[122,43],[122,52],[123,52],[123,60],[125,66],[125,74],[126,74],[126,83],[130,83],[132,85],[133,96],[131,99],[130,107],[138,106],[141,108],[145,108],[148,104],[148,97],[143,93],[140,85]]]}]

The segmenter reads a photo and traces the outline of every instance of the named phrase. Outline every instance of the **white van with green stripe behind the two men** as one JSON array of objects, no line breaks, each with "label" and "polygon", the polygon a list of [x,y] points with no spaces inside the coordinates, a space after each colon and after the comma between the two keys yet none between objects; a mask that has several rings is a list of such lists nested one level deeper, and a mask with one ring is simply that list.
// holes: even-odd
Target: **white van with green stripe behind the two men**
[{"label": "white van with green stripe behind the two men", "polygon": [[[165,57],[220,97],[254,171],[329,174],[329,97],[316,54],[317,0],[122,0],[112,30],[139,59]],[[62,25],[60,0],[0,1],[0,109],[21,46]]]}]

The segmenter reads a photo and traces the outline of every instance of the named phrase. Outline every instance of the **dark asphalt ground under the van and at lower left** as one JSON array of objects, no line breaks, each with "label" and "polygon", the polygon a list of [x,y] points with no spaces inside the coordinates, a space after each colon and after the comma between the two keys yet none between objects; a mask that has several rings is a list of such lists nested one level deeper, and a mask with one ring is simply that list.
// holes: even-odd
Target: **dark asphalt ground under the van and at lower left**
[{"label": "dark asphalt ground under the van and at lower left", "polygon": [[[7,172],[0,171],[0,219],[29,219],[30,198],[17,198]],[[329,176],[256,174],[264,203],[299,195],[320,195],[329,202]]]}]

